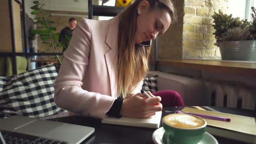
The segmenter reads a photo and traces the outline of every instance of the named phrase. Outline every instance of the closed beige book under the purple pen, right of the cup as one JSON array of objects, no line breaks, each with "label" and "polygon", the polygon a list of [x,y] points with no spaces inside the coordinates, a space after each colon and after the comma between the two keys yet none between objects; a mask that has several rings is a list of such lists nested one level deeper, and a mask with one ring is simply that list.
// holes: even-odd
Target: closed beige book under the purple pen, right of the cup
[{"label": "closed beige book under the purple pen, right of the cup", "polygon": [[220,137],[227,137],[256,144],[256,118],[231,115],[215,111],[199,110],[195,108],[183,108],[182,111],[230,118],[230,122],[203,118],[207,121],[206,131]]}]

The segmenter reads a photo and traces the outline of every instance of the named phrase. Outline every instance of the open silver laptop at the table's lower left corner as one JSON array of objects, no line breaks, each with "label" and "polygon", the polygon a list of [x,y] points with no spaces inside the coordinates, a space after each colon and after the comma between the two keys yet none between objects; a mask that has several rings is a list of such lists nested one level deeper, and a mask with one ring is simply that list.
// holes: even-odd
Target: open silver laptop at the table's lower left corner
[{"label": "open silver laptop at the table's lower left corner", "polygon": [[22,116],[0,119],[3,144],[80,144],[94,131],[92,127]]}]

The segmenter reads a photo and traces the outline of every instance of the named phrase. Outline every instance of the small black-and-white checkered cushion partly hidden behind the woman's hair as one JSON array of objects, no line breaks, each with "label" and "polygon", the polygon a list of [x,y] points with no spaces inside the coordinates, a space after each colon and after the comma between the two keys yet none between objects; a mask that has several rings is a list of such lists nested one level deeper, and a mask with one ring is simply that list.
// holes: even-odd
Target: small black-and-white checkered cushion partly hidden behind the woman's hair
[{"label": "small black-and-white checkered cushion partly hidden behind the woman's hair", "polygon": [[157,77],[158,75],[154,75],[153,77],[146,77],[143,80],[142,90],[150,91],[150,92],[157,92]]}]

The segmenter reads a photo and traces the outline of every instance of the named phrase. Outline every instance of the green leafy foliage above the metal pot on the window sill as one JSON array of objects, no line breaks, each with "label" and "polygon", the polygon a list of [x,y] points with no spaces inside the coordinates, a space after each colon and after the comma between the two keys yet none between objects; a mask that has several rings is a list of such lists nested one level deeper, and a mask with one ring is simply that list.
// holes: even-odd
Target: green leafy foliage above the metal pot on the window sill
[{"label": "green leafy foliage above the metal pot on the window sill", "polygon": [[[217,42],[223,41],[223,35],[227,36],[229,33],[233,33],[233,31],[239,30],[241,33],[242,31],[246,32],[249,29],[250,23],[247,20],[240,20],[239,17],[233,18],[232,14],[227,15],[224,14],[221,10],[219,10],[219,13],[214,12],[213,14],[213,27],[215,29],[215,38]],[[240,29],[235,29],[239,27]],[[230,29],[234,29],[231,30]],[[240,33],[240,34],[241,34]],[[245,34],[245,33],[243,33]],[[231,38],[232,36],[230,36]],[[246,37],[246,36],[241,36]],[[225,38],[227,39],[227,37]],[[230,39],[230,41],[234,41]]]}]

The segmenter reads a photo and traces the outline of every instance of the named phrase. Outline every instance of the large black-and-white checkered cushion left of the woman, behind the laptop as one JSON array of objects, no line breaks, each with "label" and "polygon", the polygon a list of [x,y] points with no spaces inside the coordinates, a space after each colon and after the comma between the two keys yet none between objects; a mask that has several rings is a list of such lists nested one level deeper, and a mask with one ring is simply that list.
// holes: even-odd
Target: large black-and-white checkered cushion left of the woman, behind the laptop
[{"label": "large black-and-white checkered cushion left of the woman, behind the laptop", "polygon": [[19,75],[0,77],[0,118],[12,115],[40,118],[64,111],[53,100],[57,75],[55,66],[49,64]]}]

